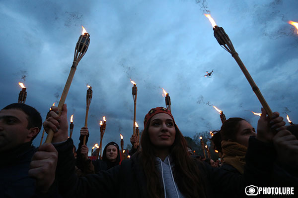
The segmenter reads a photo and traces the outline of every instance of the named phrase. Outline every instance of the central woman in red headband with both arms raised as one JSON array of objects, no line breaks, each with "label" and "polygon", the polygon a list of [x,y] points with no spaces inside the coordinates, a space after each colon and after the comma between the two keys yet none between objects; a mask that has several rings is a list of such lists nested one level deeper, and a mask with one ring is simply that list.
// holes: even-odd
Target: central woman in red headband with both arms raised
[{"label": "central woman in red headband with both arms raised", "polygon": [[[218,191],[225,189],[222,193],[224,197],[241,197],[248,184],[269,183],[272,170],[268,169],[268,163],[275,155],[270,126],[279,131],[284,129],[285,124],[277,112],[271,120],[266,117],[266,112],[260,117],[257,136],[249,138],[244,176],[239,177],[192,159],[187,154],[187,143],[171,112],[164,107],[152,108],[144,119],[140,151],[108,171],[77,177],[73,155],[70,154],[73,141],[68,139],[66,105],[60,117],[55,113],[57,108],[52,110],[51,119],[47,119],[44,126],[46,131],[50,128],[55,131],[60,126],[53,138],[59,155],[52,151],[52,144],[47,144],[44,150],[49,151],[43,155],[36,153],[31,163],[46,160],[48,155],[58,155],[57,171],[36,171],[35,177],[43,178],[39,185],[44,190],[49,189],[50,193],[57,174],[60,192],[64,197],[74,198],[99,195],[110,198],[210,198],[214,195],[214,186]],[[57,159],[49,159],[48,162],[55,164]]]}]

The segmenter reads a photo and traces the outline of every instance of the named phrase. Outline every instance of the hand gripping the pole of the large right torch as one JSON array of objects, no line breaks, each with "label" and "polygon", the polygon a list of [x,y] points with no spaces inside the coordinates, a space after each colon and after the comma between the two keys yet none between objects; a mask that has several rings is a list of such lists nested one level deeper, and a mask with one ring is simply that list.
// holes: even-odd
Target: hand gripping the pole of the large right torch
[{"label": "hand gripping the pole of the large right torch", "polygon": [[283,121],[283,117],[279,116],[279,112],[274,112],[270,119],[266,110],[264,108],[261,110],[262,115],[258,121],[256,138],[262,142],[271,142],[277,132],[286,129],[286,122]]}]

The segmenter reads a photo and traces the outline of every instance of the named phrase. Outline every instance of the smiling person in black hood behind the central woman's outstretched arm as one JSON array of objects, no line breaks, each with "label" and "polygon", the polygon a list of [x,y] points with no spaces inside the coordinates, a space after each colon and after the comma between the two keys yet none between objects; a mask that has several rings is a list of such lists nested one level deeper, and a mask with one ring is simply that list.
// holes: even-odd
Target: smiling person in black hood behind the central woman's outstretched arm
[{"label": "smiling person in black hood behind the central woman's outstretched arm", "polygon": [[121,151],[115,142],[108,143],[103,149],[102,159],[92,161],[95,167],[95,172],[108,170],[121,163]]}]

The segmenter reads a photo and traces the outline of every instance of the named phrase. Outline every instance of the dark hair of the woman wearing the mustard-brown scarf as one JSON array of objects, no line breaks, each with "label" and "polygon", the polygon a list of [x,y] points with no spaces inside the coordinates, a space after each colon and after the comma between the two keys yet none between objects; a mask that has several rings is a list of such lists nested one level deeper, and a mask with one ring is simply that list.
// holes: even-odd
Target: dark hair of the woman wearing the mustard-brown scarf
[{"label": "dark hair of the woman wearing the mustard-brown scarf", "polygon": [[[236,141],[236,134],[239,130],[240,121],[244,120],[243,118],[233,117],[224,121],[221,130],[218,133],[214,133],[214,136],[211,140],[214,143],[214,148],[222,152],[222,141],[231,140]],[[246,121],[246,120],[244,120]]]}]

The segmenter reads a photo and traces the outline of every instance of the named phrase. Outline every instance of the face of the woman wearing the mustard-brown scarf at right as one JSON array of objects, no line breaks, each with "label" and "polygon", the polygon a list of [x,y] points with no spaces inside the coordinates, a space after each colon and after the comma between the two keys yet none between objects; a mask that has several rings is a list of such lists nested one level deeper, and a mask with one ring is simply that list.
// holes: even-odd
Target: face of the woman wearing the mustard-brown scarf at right
[{"label": "face of the woman wearing the mustard-brown scarf at right", "polygon": [[236,142],[248,147],[248,139],[250,136],[256,136],[255,129],[245,120],[241,120],[236,134]]}]

